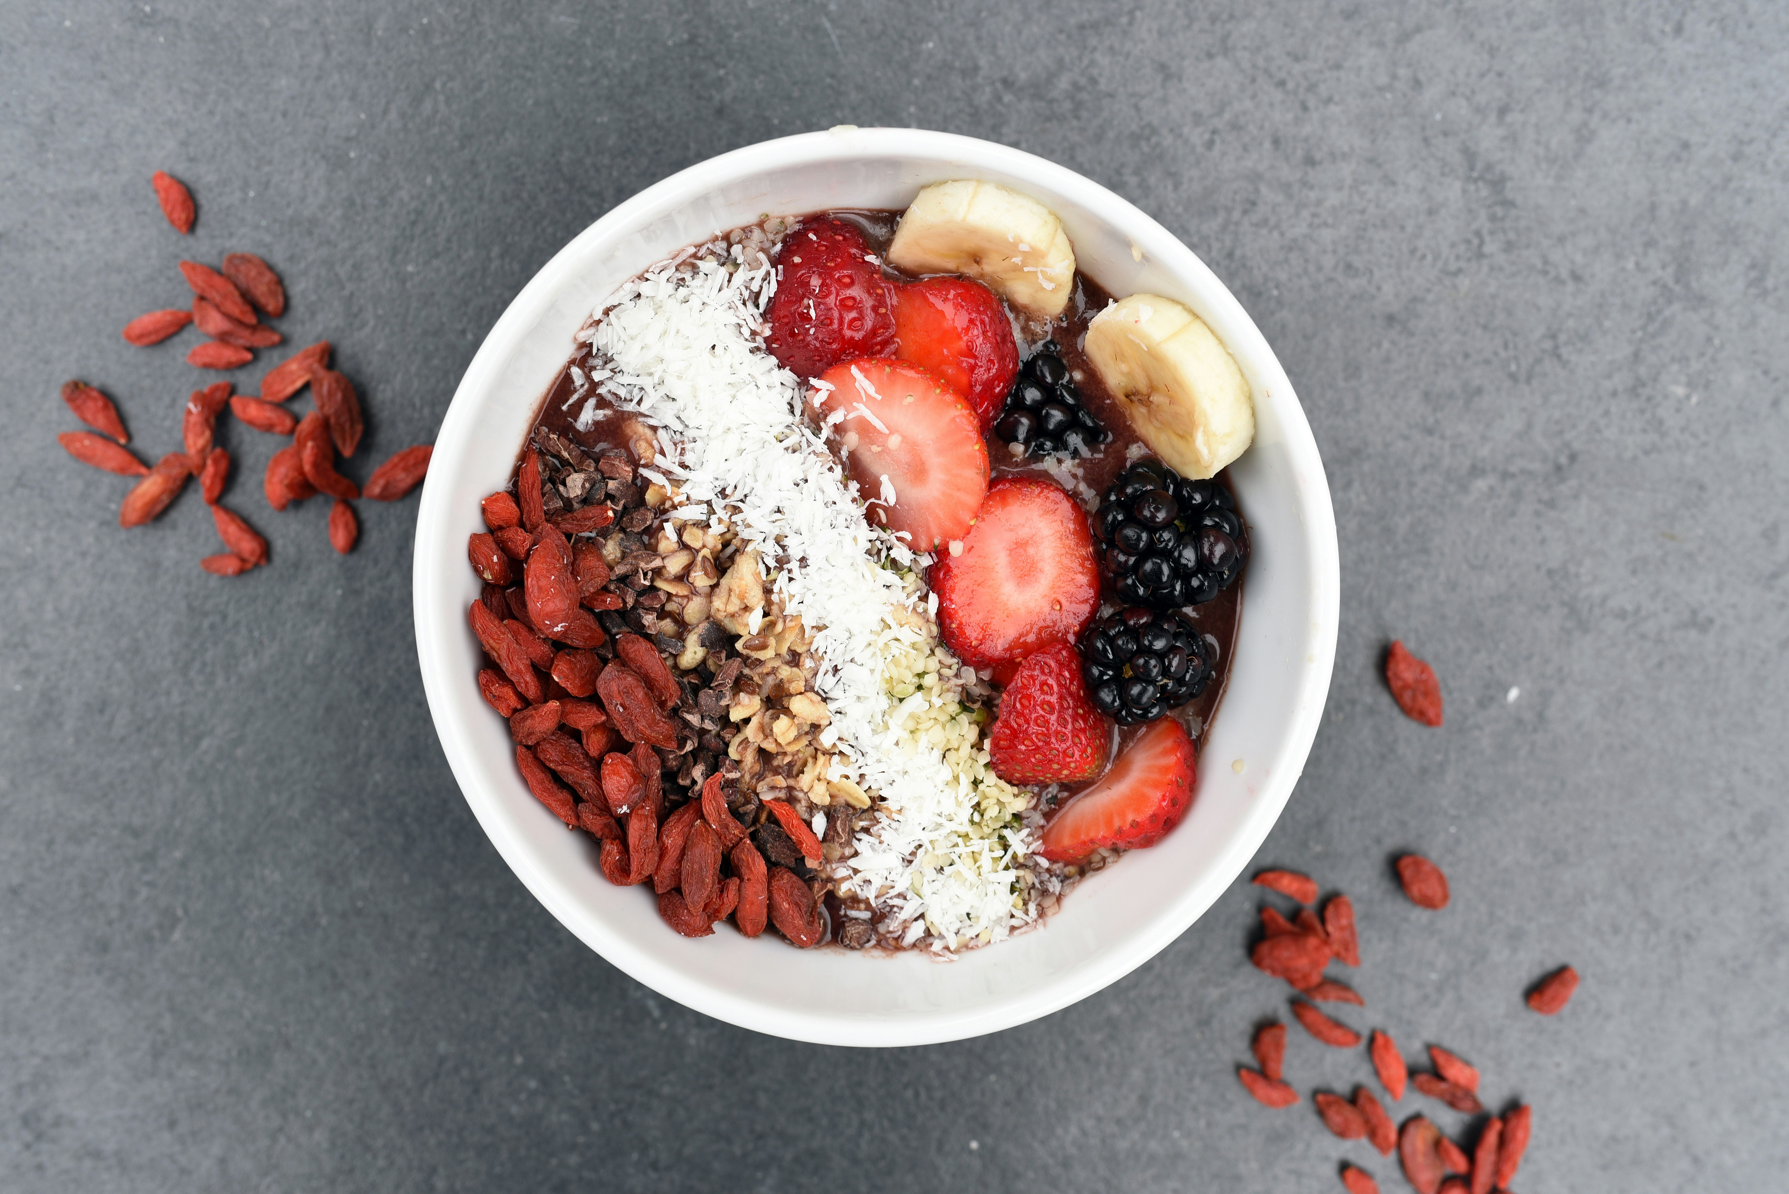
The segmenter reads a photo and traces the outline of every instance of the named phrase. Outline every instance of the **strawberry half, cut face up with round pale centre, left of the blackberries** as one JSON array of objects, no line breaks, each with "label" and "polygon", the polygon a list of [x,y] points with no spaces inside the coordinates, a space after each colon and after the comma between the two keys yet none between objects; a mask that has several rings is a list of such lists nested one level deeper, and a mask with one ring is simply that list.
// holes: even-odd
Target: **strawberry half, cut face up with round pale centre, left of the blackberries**
[{"label": "strawberry half, cut face up with round pale centre, left of the blackberries", "polygon": [[928,581],[945,645],[970,667],[1072,642],[1100,604],[1086,511],[1036,477],[996,481],[962,551],[939,554]]}]

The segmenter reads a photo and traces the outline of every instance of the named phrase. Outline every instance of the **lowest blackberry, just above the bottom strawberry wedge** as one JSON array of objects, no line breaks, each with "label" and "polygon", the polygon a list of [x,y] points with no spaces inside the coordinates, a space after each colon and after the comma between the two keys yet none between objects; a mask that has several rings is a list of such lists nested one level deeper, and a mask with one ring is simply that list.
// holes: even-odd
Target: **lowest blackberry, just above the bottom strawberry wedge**
[{"label": "lowest blackberry, just above the bottom strawberry wedge", "polygon": [[1218,649],[1179,613],[1131,606],[1081,636],[1081,677],[1120,726],[1152,722],[1202,694]]}]

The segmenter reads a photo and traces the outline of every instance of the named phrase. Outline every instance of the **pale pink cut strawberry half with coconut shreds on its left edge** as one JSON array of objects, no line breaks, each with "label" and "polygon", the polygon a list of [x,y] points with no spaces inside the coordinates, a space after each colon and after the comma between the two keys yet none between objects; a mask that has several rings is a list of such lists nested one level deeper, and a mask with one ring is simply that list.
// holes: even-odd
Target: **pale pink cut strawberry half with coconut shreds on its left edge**
[{"label": "pale pink cut strawberry half with coconut shreds on its left edge", "polygon": [[918,365],[868,357],[828,368],[807,402],[878,526],[905,531],[914,551],[970,531],[988,493],[988,445],[962,395]]}]

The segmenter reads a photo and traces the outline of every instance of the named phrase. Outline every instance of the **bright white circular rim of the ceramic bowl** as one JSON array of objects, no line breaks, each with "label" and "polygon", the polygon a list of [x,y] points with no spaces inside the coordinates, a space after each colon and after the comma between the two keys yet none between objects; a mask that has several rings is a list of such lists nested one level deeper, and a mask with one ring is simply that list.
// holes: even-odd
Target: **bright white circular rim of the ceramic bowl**
[{"label": "bright white circular rim of the ceramic bowl", "polygon": [[[1000,170],[1014,177],[1034,179],[1041,186],[1052,188],[1059,195],[1079,202],[1084,209],[1097,211],[1111,227],[1122,229],[1136,250],[1156,257],[1172,275],[1195,279],[1202,300],[1222,307],[1224,322],[1252,340],[1249,357],[1254,361],[1258,372],[1267,377],[1268,391],[1281,408],[1285,450],[1297,474],[1308,479],[1306,484],[1297,486],[1293,500],[1310,531],[1308,601],[1313,610],[1313,633],[1308,640],[1311,651],[1297,679],[1297,699],[1288,710],[1286,745],[1281,756],[1288,765],[1276,769],[1258,792],[1242,829],[1231,838],[1218,862],[1199,883],[1202,896],[1183,901],[1179,917],[1163,917],[1150,924],[1149,929],[1136,933],[1122,951],[1106,956],[1102,965],[1075,967],[1036,990],[977,1008],[927,1008],[866,1026],[861,1019],[830,1017],[825,1008],[767,1008],[766,1005],[735,997],[723,987],[692,980],[651,953],[608,935],[599,922],[594,922],[581,910],[572,892],[565,890],[556,876],[547,874],[546,867],[533,856],[531,844],[521,837],[515,826],[497,813],[497,797],[487,792],[476,778],[469,758],[471,747],[465,745],[460,733],[458,715],[453,702],[444,695],[447,685],[463,685],[465,677],[449,676],[444,652],[431,651],[431,643],[444,633],[463,633],[463,622],[449,631],[437,615],[440,597],[437,577],[440,576],[444,558],[442,542],[451,529],[453,509],[449,508],[445,483],[437,484],[433,477],[424,481],[417,513],[413,567],[417,660],[437,736],[447,756],[449,769],[492,845],[496,845],[504,863],[522,885],[562,926],[635,981],[719,1021],[814,1044],[914,1046],[998,1031],[1057,1012],[1116,983],[1174,942],[1236,879],[1268,831],[1272,831],[1290,799],[1304,770],[1304,761],[1310,756],[1311,742],[1317,736],[1322,719],[1335,665],[1340,615],[1340,563],[1335,511],[1317,441],[1297,393],[1290,379],[1286,379],[1285,368],[1279,365],[1279,357],[1242,304],[1191,248],[1183,245],[1179,238],[1129,200],[1048,159],[961,134],[839,125],[823,132],[776,138],[699,161],[617,204],[560,248],[508,304],[467,365],[447,413],[442,416],[437,443],[445,445],[449,452],[471,447],[471,425],[478,400],[488,393],[499,370],[513,352],[515,343],[553,306],[556,295],[581,263],[585,247],[592,241],[601,241],[615,229],[637,227],[671,200],[719,189],[726,182],[757,173],[769,173],[789,166],[889,157],[950,161],[952,164],[961,164],[966,175],[975,175],[979,168]],[[646,265],[649,263],[640,263],[640,268]],[[451,554],[463,556],[463,552]]]}]

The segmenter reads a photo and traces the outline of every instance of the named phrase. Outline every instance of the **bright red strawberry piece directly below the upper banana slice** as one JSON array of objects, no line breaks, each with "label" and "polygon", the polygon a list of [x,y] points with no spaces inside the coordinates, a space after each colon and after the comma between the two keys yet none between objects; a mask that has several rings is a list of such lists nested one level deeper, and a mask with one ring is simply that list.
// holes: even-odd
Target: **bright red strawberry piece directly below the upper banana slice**
[{"label": "bright red strawberry piece directly below the upper banana slice", "polygon": [[1018,377],[1018,341],[995,291],[966,277],[928,277],[894,291],[894,350],[970,400],[982,433]]}]

